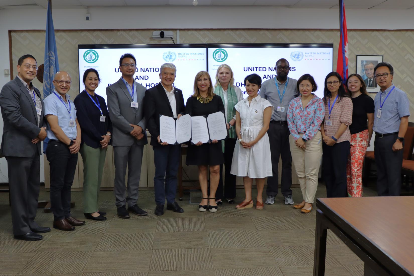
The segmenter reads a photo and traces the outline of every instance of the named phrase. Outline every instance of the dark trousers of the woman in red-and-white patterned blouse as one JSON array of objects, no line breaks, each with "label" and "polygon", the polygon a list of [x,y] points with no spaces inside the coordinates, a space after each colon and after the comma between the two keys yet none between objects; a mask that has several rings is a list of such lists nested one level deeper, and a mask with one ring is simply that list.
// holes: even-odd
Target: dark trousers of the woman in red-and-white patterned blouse
[{"label": "dark trousers of the woman in red-and-white patterned blouse", "polygon": [[347,163],[350,150],[349,141],[333,146],[327,146],[325,143],[322,145],[322,168],[327,197],[348,197]]}]

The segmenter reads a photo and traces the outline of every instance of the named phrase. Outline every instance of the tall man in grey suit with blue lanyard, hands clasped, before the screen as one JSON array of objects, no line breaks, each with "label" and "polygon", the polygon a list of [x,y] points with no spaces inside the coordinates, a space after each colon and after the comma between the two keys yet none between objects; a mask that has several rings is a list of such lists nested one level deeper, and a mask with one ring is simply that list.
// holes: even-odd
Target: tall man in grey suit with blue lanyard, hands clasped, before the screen
[{"label": "tall man in grey suit with blue lanyard, hands clasped, before the screen", "polygon": [[[137,60],[132,54],[119,59],[122,77],[106,88],[108,111],[113,124],[112,146],[115,164],[115,198],[120,218],[130,213],[146,216],[148,213],[137,205],[141,163],[147,129],[144,117],[145,87],[135,82]],[[128,196],[125,194],[125,173],[128,166]],[[128,203],[128,211],[125,208]]]}]

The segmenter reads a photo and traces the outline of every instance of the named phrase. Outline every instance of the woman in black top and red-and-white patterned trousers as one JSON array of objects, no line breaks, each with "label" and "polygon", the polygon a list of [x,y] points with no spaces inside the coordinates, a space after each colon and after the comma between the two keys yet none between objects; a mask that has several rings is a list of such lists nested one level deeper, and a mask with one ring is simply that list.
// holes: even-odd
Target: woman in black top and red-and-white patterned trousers
[{"label": "woman in black top and red-and-white patterned trousers", "polygon": [[347,165],[347,191],[349,197],[362,197],[362,165],[373,132],[374,100],[368,96],[366,84],[359,74],[348,77],[348,91],[354,108],[352,125],[349,126],[351,151]]}]

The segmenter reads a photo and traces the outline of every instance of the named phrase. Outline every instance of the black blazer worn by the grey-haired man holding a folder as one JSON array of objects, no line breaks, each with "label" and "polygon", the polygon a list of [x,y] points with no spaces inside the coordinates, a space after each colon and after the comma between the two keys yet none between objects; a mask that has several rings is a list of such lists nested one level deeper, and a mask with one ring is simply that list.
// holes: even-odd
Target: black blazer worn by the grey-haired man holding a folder
[{"label": "black blazer worn by the grey-haired man holding a folder", "polygon": [[[174,96],[176,96],[177,115],[184,115],[183,91],[174,87]],[[161,83],[145,91],[144,106],[145,120],[147,121],[148,131],[151,133],[150,144],[161,146],[157,139],[159,135],[159,116],[173,117],[170,101]]]}]

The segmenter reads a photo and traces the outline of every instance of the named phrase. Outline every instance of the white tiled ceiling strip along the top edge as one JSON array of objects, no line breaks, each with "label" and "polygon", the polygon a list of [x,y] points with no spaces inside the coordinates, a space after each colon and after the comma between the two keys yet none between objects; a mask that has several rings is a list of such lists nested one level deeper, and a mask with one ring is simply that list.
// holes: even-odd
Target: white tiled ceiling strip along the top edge
[{"label": "white tiled ceiling strip along the top edge", "polygon": [[[347,9],[414,10],[414,0],[344,0]],[[198,6],[283,6],[289,8],[338,8],[338,0],[198,0]],[[47,0],[0,0],[0,9],[47,8]],[[193,5],[193,0],[52,0],[53,8],[108,6]]]}]

